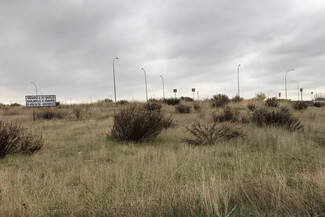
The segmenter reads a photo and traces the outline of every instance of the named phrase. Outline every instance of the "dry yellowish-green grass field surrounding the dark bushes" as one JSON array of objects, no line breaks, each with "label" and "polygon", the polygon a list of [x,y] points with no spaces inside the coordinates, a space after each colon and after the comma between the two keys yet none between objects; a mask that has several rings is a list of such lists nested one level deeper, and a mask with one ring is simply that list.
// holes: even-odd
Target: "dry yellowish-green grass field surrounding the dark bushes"
[{"label": "dry yellowish-green grass field surrounding the dark bushes", "polygon": [[[163,104],[172,126],[142,143],[107,138],[114,113],[128,104],[61,105],[52,108],[58,117],[36,121],[31,109],[1,108],[3,122],[41,134],[44,146],[0,159],[0,216],[205,217],[233,208],[230,216],[325,215],[325,107],[296,111],[281,102],[303,129],[239,123],[245,136],[193,146],[186,127],[222,109],[200,101],[196,112],[183,103],[189,114]],[[248,100],[229,107],[248,118],[248,103],[264,107]]]}]

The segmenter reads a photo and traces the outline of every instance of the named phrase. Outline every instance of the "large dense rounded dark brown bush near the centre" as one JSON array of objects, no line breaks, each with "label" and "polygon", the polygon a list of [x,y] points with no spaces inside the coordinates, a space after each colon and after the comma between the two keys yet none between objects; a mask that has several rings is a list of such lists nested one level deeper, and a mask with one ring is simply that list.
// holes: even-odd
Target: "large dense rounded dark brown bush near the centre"
[{"label": "large dense rounded dark brown bush near the centre", "polygon": [[114,125],[108,137],[139,143],[158,136],[166,123],[170,125],[171,122],[158,110],[151,111],[143,106],[133,105],[114,114]]}]

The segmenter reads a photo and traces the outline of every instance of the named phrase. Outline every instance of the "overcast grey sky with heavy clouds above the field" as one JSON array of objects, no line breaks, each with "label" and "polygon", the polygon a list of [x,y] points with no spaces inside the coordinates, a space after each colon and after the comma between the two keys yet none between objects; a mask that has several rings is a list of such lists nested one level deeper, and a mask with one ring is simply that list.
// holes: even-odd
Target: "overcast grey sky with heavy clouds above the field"
[{"label": "overcast grey sky with heavy clouds above the field", "polygon": [[0,0],[0,101],[325,95],[323,0]]}]

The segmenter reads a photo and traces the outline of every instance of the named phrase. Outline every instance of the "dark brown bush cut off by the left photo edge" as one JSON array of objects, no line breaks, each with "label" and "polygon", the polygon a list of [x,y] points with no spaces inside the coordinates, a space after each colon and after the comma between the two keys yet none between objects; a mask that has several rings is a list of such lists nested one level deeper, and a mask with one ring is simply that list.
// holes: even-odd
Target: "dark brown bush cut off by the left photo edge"
[{"label": "dark brown bush cut off by the left photo edge", "polygon": [[0,158],[8,154],[32,154],[43,147],[41,136],[25,133],[19,124],[0,121]]}]

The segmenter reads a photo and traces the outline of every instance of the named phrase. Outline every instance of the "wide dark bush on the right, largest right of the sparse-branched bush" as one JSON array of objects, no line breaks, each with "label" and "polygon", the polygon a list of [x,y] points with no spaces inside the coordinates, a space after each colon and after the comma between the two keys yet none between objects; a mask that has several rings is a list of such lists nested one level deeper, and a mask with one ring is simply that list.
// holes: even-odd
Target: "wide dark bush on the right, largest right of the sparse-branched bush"
[{"label": "wide dark bush on the right, largest right of the sparse-branched bush", "polygon": [[284,127],[289,131],[296,131],[303,128],[301,121],[294,117],[288,109],[282,108],[277,111],[268,111],[266,109],[258,109],[254,111],[252,122],[257,126],[277,126]]}]

